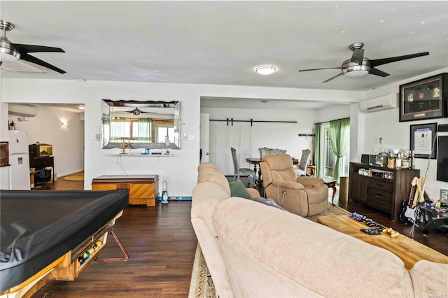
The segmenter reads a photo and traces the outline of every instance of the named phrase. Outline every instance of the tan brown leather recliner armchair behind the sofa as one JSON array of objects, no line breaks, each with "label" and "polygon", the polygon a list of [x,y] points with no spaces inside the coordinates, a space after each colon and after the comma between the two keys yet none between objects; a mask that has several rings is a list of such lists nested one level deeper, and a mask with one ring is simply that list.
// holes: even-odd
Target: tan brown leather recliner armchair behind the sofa
[{"label": "tan brown leather recliner armchair behind the sofa", "polygon": [[302,217],[328,208],[328,186],[323,179],[296,177],[293,158],[287,154],[267,155],[260,162],[265,197]]}]

